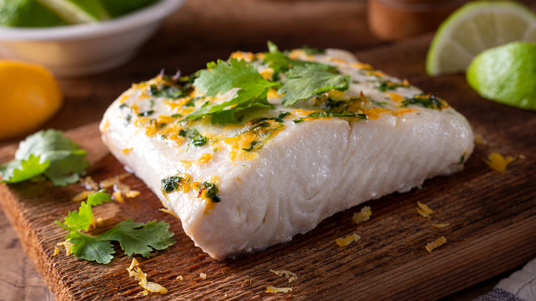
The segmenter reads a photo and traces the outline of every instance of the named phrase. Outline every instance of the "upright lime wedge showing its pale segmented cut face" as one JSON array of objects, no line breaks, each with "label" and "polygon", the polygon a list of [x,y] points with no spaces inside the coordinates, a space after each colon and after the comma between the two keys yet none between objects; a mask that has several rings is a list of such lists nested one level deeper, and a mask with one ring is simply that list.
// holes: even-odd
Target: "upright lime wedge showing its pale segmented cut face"
[{"label": "upright lime wedge showing its pale segmented cut face", "polygon": [[463,5],[439,26],[426,58],[430,76],[463,72],[485,49],[513,41],[536,42],[536,14],[512,1]]}]

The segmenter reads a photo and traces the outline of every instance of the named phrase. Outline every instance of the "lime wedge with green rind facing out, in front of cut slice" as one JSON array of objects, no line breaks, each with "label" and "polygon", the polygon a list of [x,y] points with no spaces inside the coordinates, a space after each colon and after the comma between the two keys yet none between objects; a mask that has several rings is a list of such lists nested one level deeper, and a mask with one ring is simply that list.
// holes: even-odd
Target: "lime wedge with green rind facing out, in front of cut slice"
[{"label": "lime wedge with green rind facing out, in front of cut slice", "polygon": [[513,42],[487,49],[471,61],[466,76],[484,98],[536,110],[536,43]]}]

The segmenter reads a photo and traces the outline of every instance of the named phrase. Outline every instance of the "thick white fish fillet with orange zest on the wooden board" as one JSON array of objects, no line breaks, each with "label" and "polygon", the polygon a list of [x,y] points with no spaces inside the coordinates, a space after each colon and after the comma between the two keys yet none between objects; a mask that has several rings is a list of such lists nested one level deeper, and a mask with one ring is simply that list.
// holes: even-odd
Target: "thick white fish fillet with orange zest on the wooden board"
[{"label": "thick white fish fillet with orange zest on the wooden board", "polygon": [[[173,116],[194,109],[177,105],[190,98],[169,100],[148,92],[151,85],[161,85],[161,77],[133,85],[102,120],[102,139],[111,153],[177,214],[186,234],[213,258],[291,241],[336,212],[457,172],[473,151],[469,123],[446,102],[443,109],[401,106],[404,98],[423,92],[342,50],[291,55],[349,74],[353,82],[347,91],[328,94],[334,99],[361,97],[367,120],[307,117],[311,110],[321,111],[313,101],[282,107],[280,98],[269,93],[276,109],[256,117],[290,114],[280,122],[261,121],[269,133],[263,144],[251,144],[258,136],[248,133],[259,122],[247,124],[253,118],[249,116],[236,125],[190,122],[208,138],[203,146],[194,146],[192,139],[177,135],[181,125]],[[269,72],[266,66],[258,69]],[[381,81],[398,86],[381,91]],[[212,101],[223,102],[235,92]],[[203,100],[196,102],[197,107],[201,104]],[[254,149],[242,149],[247,146]],[[182,180],[177,190],[164,193],[161,181],[171,176]],[[204,182],[214,183],[219,199],[205,194]]]}]

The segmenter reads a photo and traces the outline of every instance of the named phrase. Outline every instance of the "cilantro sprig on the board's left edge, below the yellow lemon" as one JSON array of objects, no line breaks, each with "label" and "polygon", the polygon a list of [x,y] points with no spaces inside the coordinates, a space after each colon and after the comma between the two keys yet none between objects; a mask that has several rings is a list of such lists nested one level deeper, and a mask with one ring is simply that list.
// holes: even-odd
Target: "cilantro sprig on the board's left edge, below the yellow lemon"
[{"label": "cilantro sprig on the board's left edge, below the yellow lemon", "polygon": [[55,186],[76,183],[89,163],[86,151],[63,135],[49,129],[28,136],[19,144],[15,159],[0,166],[2,182],[19,183],[45,175]]}]

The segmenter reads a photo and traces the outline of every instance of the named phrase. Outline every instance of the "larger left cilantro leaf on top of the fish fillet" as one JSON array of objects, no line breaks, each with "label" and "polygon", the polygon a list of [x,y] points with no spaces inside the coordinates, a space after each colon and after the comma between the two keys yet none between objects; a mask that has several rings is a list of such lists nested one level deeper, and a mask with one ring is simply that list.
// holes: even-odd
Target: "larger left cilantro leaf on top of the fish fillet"
[{"label": "larger left cilantro leaf on top of the fish fillet", "polygon": [[231,100],[203,107],[188,115],[186,120],[212,115],[212,123],[235,122],[235,113],[238,111],[254,107],[273,108],[267,101],[267,93],[271,87],[280,84],[263,78],[254,65],[231,58],[229,63],[218,60],[217,63],[208,63],[207,67],[208,70],[199,71],[199,77],[194,80],[199,91],[214,97],[234,88],[239,90]]}]

